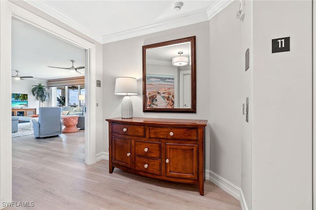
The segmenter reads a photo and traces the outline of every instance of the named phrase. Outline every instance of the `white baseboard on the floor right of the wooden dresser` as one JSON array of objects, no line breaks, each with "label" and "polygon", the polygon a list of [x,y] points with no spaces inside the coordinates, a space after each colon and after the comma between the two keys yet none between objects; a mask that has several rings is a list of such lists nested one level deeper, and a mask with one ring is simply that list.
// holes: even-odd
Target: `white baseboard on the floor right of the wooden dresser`
[{"label": "white baseboard on the floor right of the wooden dresser", "polygon": [[205,179],[210,180],[225,192],[236,198],[240,202],[241,210],[248,210],[242,190],[235,184],[209,170],[205,170]]}]

